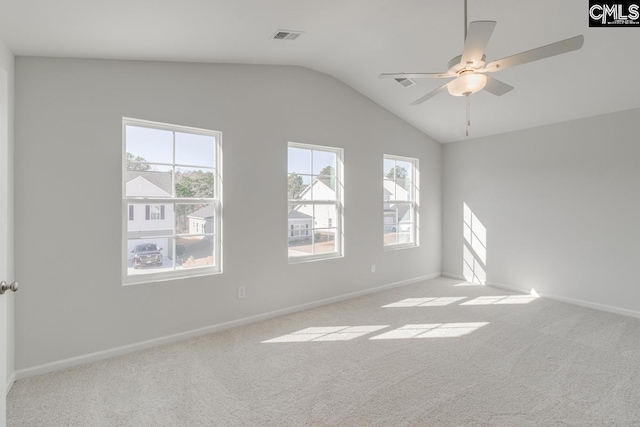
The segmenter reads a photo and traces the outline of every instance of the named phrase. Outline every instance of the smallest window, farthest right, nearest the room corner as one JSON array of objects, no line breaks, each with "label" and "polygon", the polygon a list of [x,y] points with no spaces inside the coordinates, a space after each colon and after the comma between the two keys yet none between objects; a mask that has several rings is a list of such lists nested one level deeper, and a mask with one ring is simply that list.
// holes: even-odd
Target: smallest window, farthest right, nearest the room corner
[{"label": "smallest window, farthest right, nearest the room corner", "polygon": [[384,245],[417,246],[418,159],[385,155],[383,172]]}]

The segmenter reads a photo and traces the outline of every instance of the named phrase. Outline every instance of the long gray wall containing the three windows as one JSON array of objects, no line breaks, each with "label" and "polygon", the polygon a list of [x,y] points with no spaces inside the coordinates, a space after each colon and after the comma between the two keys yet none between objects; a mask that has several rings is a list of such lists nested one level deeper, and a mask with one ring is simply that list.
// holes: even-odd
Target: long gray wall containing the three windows
[{"label": "long gray wall containing the three windows", "polygon": [[[16,76],[17,369],[440,271],[440,145],[332,77],[45,58]],[[121,285],[123,116],[223,132],[223,274]],[[287,263],[288,141],[344,148],[344,258]],[[384,153],[420,159],[419,248],[383,250]]]}]

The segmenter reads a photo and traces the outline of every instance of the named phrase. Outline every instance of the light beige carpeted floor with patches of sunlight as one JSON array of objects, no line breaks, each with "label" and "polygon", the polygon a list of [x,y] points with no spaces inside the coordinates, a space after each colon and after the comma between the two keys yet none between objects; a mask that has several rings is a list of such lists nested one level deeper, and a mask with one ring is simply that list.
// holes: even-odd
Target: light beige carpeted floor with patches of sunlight
[{"label": "light beige carpeted floor with patches of sunlight", "polygon": [[438,278],[18,381],[8,426],[640,426],[640,320]]}]

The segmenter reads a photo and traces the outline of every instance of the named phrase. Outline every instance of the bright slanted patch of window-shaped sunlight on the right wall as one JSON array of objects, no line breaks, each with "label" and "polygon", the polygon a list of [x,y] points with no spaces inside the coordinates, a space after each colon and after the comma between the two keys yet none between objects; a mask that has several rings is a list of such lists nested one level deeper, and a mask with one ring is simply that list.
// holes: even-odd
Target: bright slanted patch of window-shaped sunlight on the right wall
[{"label": "bright slanted patch of window-shaped sunlight on the right wall", "polygon": [[467,282],[486,284],[487,229],[466,203],[463,203],[462,274]]}]

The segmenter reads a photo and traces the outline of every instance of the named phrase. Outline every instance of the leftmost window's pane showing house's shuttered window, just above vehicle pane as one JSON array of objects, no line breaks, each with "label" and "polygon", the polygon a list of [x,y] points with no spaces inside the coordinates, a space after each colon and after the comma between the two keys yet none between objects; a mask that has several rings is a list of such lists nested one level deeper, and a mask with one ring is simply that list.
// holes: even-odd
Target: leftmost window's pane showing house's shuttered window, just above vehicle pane
[{"label": "leftmost window's pane showing house's shuttered window, just above vehicle pane", "polygon": [[127,207],[127,237],[173,234],[172,203],[130,203]]}]

